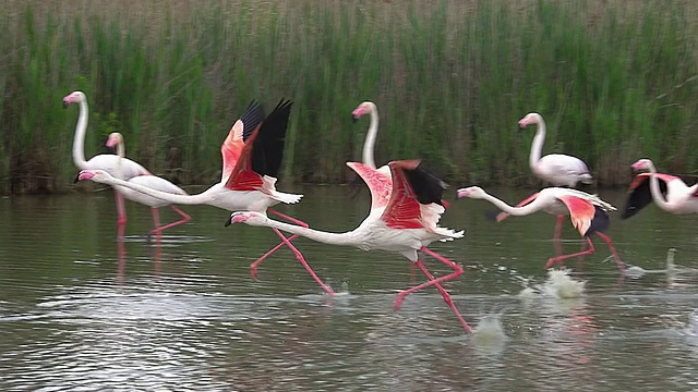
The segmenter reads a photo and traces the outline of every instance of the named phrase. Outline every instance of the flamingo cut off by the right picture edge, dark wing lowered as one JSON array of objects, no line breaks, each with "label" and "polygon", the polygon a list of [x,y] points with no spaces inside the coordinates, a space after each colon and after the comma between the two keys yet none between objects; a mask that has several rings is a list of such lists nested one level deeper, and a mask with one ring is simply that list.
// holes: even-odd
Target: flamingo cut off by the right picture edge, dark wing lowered
[{"label": "flamingo cut off by the right picture edge, dark wing lowered", "polygon": [[666,212],[676,215],[698,212],[698,183],[688,186],[675,175],[658,173],[654,163],[649,159],[640,159],[633,163],[633,170],[648,170],[649,173],[639,173],[635,176],[621,218],[633,217],[652,199]]}]

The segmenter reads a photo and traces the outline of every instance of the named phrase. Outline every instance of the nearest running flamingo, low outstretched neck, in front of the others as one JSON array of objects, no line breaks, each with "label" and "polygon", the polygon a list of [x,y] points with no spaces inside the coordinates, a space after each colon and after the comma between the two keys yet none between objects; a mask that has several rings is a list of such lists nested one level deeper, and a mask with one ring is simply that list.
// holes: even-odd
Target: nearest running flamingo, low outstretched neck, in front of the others
[{"label": "nearest running flamingo, low outstretched neck, in front of the others", "polygon": [[[376,171],[373,168],[359,162],[347,162],[347,166],[353,169],[366,183],[377,184]],[[442,196],[446,184],[421,170],[418,160],[393,161],[388,163],[388,168],[393,184],[387,205],[381,208],[372,207],[369,216],[352,231],[345,233],[324,232],[273,220],[258,211],[232,212],[227,225],[246,223],[254,226],[269,226],[325,244],[354,246],[362,250],[399,253],[414,262],[429,281],[401,291],[395,299],[395,309],[400,308],[408,294],[435,285],[460,323],[470,332],[470,327],[460,316],[450,295],[441,286],[442,282],[460,277],[462,268],[426,247],[437,240],[453,241],[464,236],[462,231],[456,232],[438,226],[438,220],[445,210]],[[380,186],[386,187],[384,182],[381,184]],[[374,193],[376,188],[372,187],[371,189]],[[373,200],[376,200],[375,193]],[[453,268],[454,272],[434,278],[420,261],[419,250]]]}]

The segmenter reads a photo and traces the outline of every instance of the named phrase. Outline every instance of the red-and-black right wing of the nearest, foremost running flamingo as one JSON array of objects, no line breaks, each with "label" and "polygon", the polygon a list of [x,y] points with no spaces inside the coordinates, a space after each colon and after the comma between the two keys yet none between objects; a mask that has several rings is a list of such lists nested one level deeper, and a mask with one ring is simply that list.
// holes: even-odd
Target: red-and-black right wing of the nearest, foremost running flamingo
[{"label": "red-and-black right wing of the nearest, foremost running flamingo", "polygon": [[[388,167],[393,177],[393,192],[381,219],[394,229],[424,229],[422,206],[436,204],[442,207],[430,218],[437,221],[444,211],[442,197],[446,184],[420,170],[419,160],[393,161]],[[430,222],[430,225],[435,228],[436,221]]]}]

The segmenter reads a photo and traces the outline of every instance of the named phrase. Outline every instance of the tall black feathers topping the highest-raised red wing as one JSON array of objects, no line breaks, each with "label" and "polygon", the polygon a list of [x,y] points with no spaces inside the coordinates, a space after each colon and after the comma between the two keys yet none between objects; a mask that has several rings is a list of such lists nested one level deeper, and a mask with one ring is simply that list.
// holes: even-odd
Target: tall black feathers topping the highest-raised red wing
[{"label": "tall black feathers topping the highest-raised red wing", "polygon": [[292,101],[281,99],[262,122],[252,145],[251,162],[254,172],[261,175],[277,176],[284,160],[286,131],[292,105]]}]

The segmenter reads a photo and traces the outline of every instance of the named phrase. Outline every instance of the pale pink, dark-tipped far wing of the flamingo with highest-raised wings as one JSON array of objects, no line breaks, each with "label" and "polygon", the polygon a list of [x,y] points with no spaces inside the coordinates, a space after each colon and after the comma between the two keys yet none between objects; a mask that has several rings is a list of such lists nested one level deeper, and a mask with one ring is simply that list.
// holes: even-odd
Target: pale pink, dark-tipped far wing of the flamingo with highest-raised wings
[{"label": "pale pink, dark-tipped far wing of the flamingo with highest-raised wings", "polygon": [[264,109],[256,101],[250,102],[240,119],[238,119],[228,132],[228,137],[220,145],[222,155],[222,174],[220,181],[224,182],[236,167],[240,159],[244,140],[246,140],[254,130],[264,121]]}]

